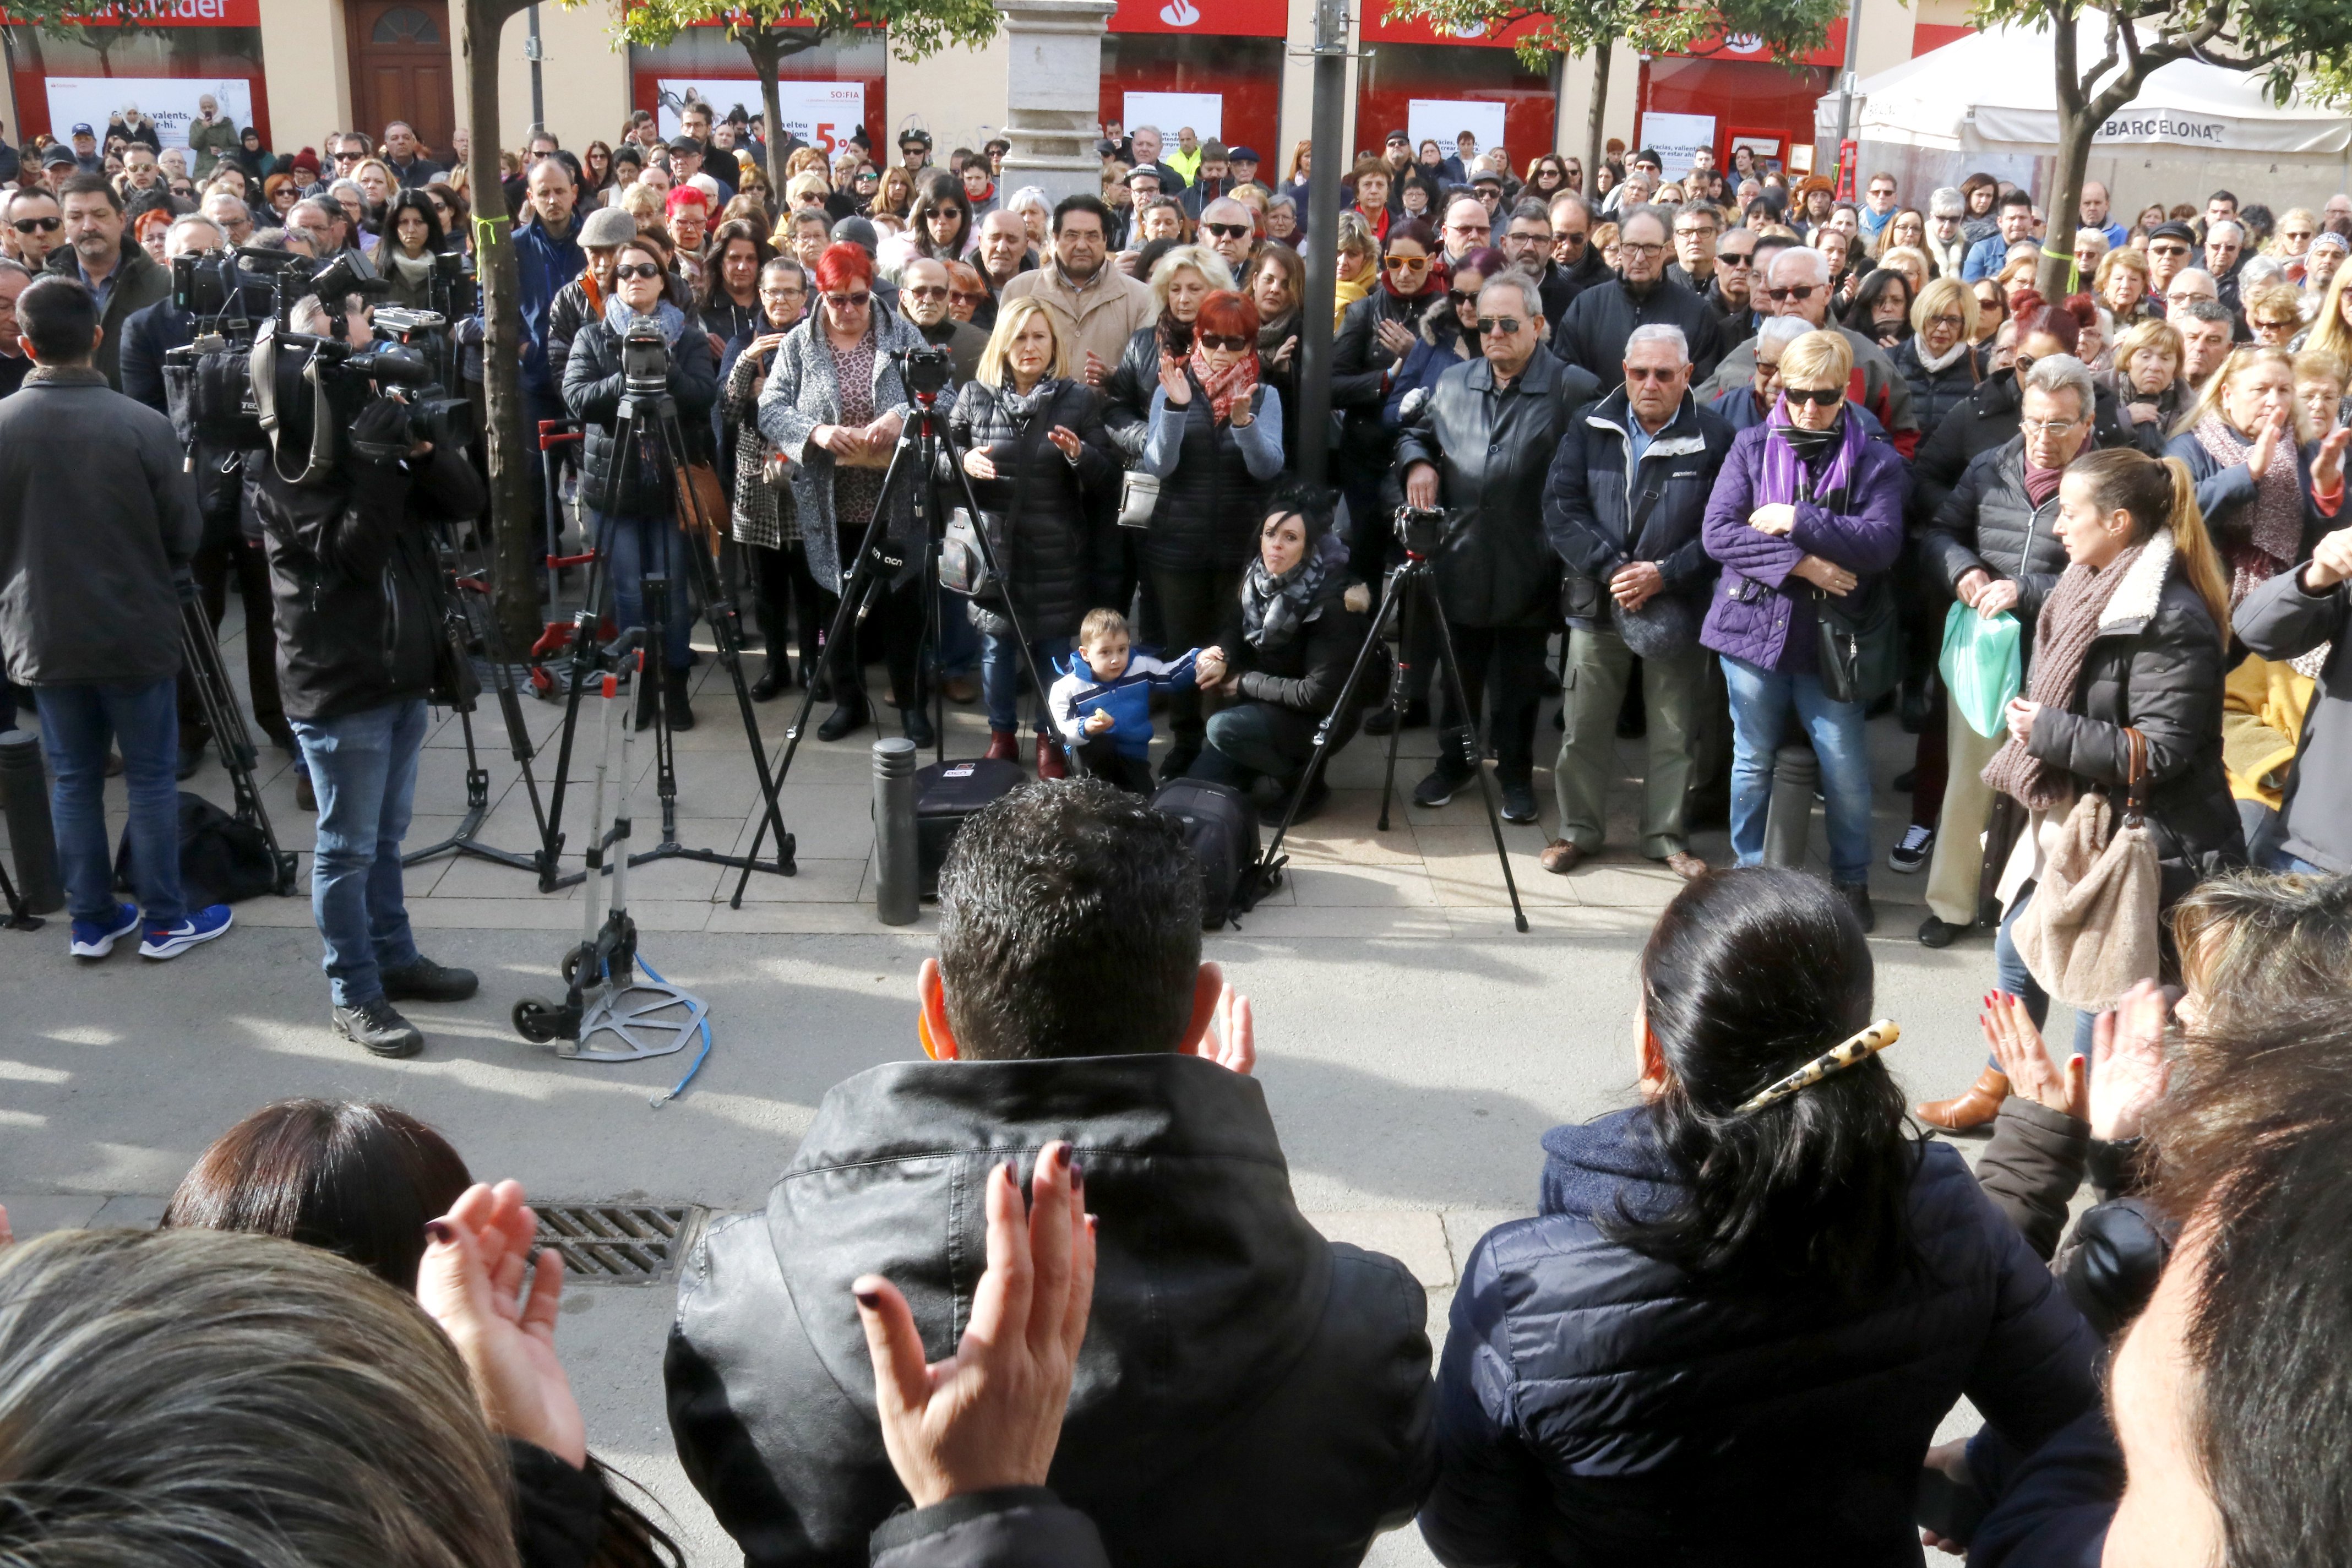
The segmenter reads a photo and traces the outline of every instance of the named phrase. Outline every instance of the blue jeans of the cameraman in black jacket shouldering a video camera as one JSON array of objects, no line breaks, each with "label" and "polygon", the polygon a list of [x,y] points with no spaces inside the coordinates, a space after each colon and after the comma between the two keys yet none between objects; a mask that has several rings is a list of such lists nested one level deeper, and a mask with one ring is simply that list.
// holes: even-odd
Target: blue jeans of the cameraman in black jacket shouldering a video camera
[{"label": "blue jeans of the cameraman in black jacket shouldering a video camera", "polygon": [[412,696],[334,719],[294,719],[294,738],[318,790],[310,917],[327,943],[334,1004],[355,1006],[383,994],[381,971],[416,961],[400,839],[416,797],[426,703]]}]

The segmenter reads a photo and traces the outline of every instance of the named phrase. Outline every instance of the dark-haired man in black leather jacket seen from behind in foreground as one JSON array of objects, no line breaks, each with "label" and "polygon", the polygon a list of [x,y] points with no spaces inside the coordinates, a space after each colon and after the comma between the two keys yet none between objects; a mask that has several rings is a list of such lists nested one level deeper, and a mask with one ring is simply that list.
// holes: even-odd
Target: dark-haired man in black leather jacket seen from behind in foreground
[{"label": "dark-haired man in black leather jacket seen from behind in foreground", "polygon": [[1247,1046],[1211,1037],[1178,827],[1101,780],[1023,785],[957,835],[938,936],[936,1060],[835,1086],[767,1208],[687,1258],[663,1368],[687,1476],[753,1568],[863,1568],[908,1493],[851,1281],[889,1279],[948,1354],[983,1182],[1065,1138],[1098,1265],[1049,1486],[1122,1568],[1352,1568],[1432,1479],[1428,1298],[1298,1213]]}]

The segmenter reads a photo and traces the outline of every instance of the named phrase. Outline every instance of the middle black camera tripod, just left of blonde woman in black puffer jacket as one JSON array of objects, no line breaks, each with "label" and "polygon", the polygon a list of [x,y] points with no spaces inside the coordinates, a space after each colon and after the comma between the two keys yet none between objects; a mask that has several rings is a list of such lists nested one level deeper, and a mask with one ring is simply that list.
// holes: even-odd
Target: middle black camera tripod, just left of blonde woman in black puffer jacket
[{"label": "middle black camera tripod, just left of blonde woman in black puffer jacket", "polygon": [[[922,583],[922,639],[915,649],[915,668],[924,668],[924,654],[938,649],[938,543],[943,534],[943,520],[938,515],[936,496],[931,494],[931,475],[938,468],[938,458],[948,458],[948,468],[955,470],[957,489],[964,494],[964,508],[971,515],[971,534],[981,545],[981,559],[988,564],[988,576],[1004,588],[1002,614],[1011,621],[1014,642],[1021,649],[1021,668],[1028,670],[1030,684],[1037,686],[1037,708],[1044,712],[1044,696],[1051,691],[1044,675],[1037,670],[1037,654],[1030,649],[1028,628],[1021,625],[1021,611],[1014,607],[1014,590],[1004,574],[997,569],[997,548],[988,543],[988,527],[981,522],[981,501],[971,491],[971,475],[964,473],[964,451],[955,444],[955,430],[948,428],[948,416],[938,411],[938,393],[943,388],[920,390],[915,378],[906,371],[901,360],[901,378],[906,381],[913,397],[913,418],[898,430],[898,447],[889,454],[889,468],[882,470],[882,496],[875,501],[875,515],[866,522],[866,536],[858,541],[856,567],[842,581],[842,602],[833,611],[833,628],[826,632],[826,656],[830,658],[835,649],[849,646],[851,658],[856,658],[856,644],[844,644],[842,637],[856,637],[856,628],[866,623],[873,611],[875,599],[889,592],[891,578],[906,569],[906,562],[894,555],[896,545],[889,538],[887,520],[891,496],[898,494],[898,484],[913,487],[915,522],[922,527],[922,562],[917,581]],[[840,696],[840,693],[835,693]],[[946,682],[931,682],[931,691],[924,698],[931,705],[931,759],[948,759],[948,698]],[[800,736],[809,726],[809,712],[816,708],[816,686],[809,684],[800,696],[800,710],[793,712],[793,724],[783,731],[783,752],[776,759],[776,785],[783,785],[783,776],[793,771],[793,755],[800,750]],[[1077,748],[1063,748],[1070,757],[1073,771],[1084,771]],[[760,832],[767,832],[762,827]],[[753,839],[750,853],[757,858],[762,839]],[[736,877],[736,891],[729,907],[743,907],[743,889],[750,884],[750,870],[746,867]]]}]

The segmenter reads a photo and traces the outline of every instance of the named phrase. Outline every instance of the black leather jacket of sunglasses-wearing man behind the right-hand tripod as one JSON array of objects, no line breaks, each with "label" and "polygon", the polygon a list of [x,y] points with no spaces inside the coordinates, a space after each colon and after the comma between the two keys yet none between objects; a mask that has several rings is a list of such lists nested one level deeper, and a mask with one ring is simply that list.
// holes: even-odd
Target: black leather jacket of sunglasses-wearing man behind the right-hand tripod
[{"label": "black leather jacket of sunglasses-wearing man behind the right-hand tripod", "polygon": [[1599,386],[1548,353],[1496,390],[1494,364],[1465,360],[1397,440],[1397,473],[1437,465],[1446,512],[1437,595],[1454,625],[1550,625],[1559,557],[1543,538],[1543,482],[1559,437]]}]

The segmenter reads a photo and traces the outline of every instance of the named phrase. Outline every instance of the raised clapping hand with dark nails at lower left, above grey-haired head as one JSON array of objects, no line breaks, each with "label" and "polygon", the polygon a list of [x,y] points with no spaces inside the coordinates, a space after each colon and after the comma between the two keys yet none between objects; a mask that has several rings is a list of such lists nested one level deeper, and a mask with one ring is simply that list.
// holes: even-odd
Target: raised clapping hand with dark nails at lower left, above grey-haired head
[{"label": "raised clapping hand with dark nails at lower left, above grey-haired head", "polygon": [[564,1260],[548,1248],[529,1262],[536,1229],[520,1182],[468,1187],[447,1215],[426,1225],[430,1246],[416,1269],[416,1302],[456,1345],[492,1432],[536,1443],[576,1469],[588,1462],[588,1427],[555,1359]]}]

